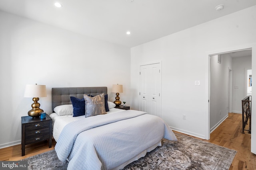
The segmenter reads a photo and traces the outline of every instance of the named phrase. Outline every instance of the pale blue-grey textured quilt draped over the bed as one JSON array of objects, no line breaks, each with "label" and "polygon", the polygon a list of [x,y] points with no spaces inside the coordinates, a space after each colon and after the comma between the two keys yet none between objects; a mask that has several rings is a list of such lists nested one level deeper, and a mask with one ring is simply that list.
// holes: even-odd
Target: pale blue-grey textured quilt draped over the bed
[{"label": "pale blue-grey textured quilt draped over the bed", "polygon": [[162,138],[177,140],[160,117],[126,110],[72,121],[63,128],[55,150],[61,161],[70,161],[70,170],[110,170],[123,168]]}]

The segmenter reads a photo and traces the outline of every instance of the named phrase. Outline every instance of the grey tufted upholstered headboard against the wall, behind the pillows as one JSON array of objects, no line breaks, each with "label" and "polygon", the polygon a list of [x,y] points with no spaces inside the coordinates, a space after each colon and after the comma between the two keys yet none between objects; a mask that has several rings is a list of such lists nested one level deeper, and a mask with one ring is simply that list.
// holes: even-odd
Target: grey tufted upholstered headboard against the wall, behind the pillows
[{"label": "grey tufted upholstered headboard against the wall, behind the pillows", "polygon": [[72,104],[70,96],[82,99],[84,94],[96,96],[98,94],[108,94],[107,87],[64,87],[52,88],[52,111],[56,106]]}]

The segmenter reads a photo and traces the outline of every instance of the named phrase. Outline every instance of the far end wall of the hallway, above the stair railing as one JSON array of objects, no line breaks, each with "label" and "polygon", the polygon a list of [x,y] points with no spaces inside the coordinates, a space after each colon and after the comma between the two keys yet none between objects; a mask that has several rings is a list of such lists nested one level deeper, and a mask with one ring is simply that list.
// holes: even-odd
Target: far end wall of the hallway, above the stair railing
[{"label": "far end wall of the hallway, above the stair railing", "polygon": [[[235,57],[233,58],[232,65],[232,113],[242,113],[242,100],[247,96],[245,93],[246,68],[252,68],[252,57]],[[235,86],[238,88],[235,88]]]}]

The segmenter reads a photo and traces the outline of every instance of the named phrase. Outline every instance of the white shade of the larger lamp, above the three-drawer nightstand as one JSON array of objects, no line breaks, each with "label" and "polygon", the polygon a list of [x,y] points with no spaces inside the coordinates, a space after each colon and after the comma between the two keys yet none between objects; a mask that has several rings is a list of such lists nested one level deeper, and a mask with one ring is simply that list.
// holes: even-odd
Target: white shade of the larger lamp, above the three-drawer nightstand
[{"label": "white shade of the larger lamp, above the three-drawer nightstand", "polygon": [[46,97],[46,86],[37,84],[27,84],[25,93],[25,98],[42,98]]}]

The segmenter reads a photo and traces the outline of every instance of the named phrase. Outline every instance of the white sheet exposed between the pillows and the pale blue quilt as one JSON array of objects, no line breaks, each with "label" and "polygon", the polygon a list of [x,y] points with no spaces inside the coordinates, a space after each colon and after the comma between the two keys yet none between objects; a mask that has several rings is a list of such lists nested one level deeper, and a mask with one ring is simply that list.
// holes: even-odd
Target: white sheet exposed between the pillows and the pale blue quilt
[{"label": "white sheet exposed between the pillows and the pale blue quilt", "polygon": [[[109,109],[107,114],[112,114],[112,113],[116,113],[116,112],[120,112],[120,111],[124,111],[124,110],[123,109],[112,108],[112,109]],[[50,114],[50,117],[52,118],[52,126],[53,126],[52,135],[53,135],[55,141],[57,142],[59,137],[60,137],[60,133],[61,133],[62,129],[64,128],[64,126],[66,126],[68,123],[71,123],[73,121],[84,118],[85,115],[78,116],[78,117],[73,117],[73,115],[59,116],[56,113],[52,113],[52,114]]]}]

